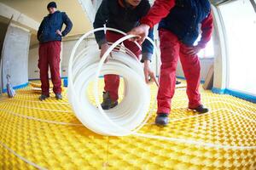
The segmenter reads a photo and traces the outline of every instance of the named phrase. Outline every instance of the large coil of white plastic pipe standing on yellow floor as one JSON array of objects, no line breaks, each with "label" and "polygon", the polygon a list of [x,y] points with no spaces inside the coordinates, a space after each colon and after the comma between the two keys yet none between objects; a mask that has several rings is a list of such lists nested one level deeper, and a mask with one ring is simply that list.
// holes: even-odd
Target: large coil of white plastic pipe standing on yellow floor
[{"label": "large coil of white plastic pipe standing on yellow floor", "polygon": [[[119,45],[135,36],[125,36],[114,42],[102,59],[99,57],[100,50],[96,45],[84,48],[75,55],[84,38],[95,31],[103,30],[116,31],[125,35],[124,32],[116,29],[98,28],[79,38],[69,59],[68,101],[73,106],[73,111],[79,121],[91,131],[108,136],[125,136],[136,133],[148,121],[150,90],[144,81],[143,66],[130,50]],[[147,39],[154,45],[151,39]],[[104,64],[104,60],[110,52],[113,59]],[[119,105],[108,111],[103,111],[98,95],[98,77],[106,74],[115,74],[124,78],[125,96]],[[90,104],[88,96],[85,95],[90,82],[94,82],[97,107]]]}]

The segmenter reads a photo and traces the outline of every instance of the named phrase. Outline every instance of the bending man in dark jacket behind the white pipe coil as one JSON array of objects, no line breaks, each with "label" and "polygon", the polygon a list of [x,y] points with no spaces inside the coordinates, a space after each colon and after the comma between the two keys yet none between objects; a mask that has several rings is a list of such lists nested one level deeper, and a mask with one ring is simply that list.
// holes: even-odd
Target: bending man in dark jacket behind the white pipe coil
[{"label": "bending man in dark jacket behind the white pipe coil", "polygon": [[[107,27],[128,32],[139,25],[139,20],[148,13],[149,8],[150,4],[148,0],[102,0],[102,4],[97,10],[93,26],[96,29],[106,24]],[[96,31],[95,36],[96,42],[101,48],[101,58],[108,50],[108,42],[116,42],[119,38],[124,37],[124,35],[114,31],[107,31],[106,35],[104,31]],[[153,39],[153,29],[150,29],[147,36]],[[142,62],[144,63],[145,80],[148,82],[148,77],[151,77],[154,82],[156,82],[154,72],[151,71],[149,67],[153,54],[153,45],[146,40],[143,42],[142,51],[134,42],[126,40],[124,45],[126,48],[130,49],[138,59],[141,54],[143,55]],[[106,62],[107,61],[108,59],[106,59]],[[118,105],[119,76],[105,75],[104,82],[105,92],[103,92],[102,109],[108,110]]]}]

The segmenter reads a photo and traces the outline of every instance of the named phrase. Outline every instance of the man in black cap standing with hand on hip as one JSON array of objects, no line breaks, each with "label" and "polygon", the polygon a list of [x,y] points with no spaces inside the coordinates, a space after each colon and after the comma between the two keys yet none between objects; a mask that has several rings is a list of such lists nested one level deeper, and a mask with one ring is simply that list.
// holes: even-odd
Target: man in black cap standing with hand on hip
[{"label": "man in black cap standing with hand on hip", "polygon": [[[49,98],[49,77],[48,68],[51,73],[56,99],[62,99],[61,95],[61,76],[60,76],[60,53],[61,37],[65,37],[72,29],[72,22],[67,14],[56,10],[57,5],[51,2],[47,5],[49,14],[44,17],[38,29],[39,60],[38,68],[40,70],[40,80],[42,94],[40,100]],[[66,25],[64,31],[61,31],[63,23]]]}]

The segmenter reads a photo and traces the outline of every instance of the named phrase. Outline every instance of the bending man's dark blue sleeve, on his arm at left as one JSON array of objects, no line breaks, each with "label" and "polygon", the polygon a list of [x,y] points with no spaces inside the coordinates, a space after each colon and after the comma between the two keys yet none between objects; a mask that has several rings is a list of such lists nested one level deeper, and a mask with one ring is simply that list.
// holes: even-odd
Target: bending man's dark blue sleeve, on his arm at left
[{"label": "bending man's dark blue sleeve, on his arm at left", "polygon": [[[102,0],[101,6],[98,8],[96,12],[96,17],[93,22],[94,29],[103,27],[109,17],[109,9],[108,9],[108,0]],[[107,42],[104,31],[96,31],[95,32],[96,42],[101,47],[101,45]]]}]

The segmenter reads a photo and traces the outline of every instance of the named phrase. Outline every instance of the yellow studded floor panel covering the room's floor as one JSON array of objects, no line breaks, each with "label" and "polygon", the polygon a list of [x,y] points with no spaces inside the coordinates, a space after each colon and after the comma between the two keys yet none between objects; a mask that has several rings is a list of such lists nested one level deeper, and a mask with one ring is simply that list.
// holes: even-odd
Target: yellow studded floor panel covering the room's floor
[{"label": "yellow studded floor panel covering the room's floor", "polygon": [[[151,92],[155,113],[154,85]],[[93,99],[91,90],[88,95]],[[187,110],[186,92],[178,88],[167,127],[155,126],[153,114],[136,135],[107,137],[81,125],[65,88],[63,96],[39,101],[32,87],[18,90],[14,99],[3,94],[0,169],[256,169],[253,103],[201,89],[210,111],[197,115]]]}]

